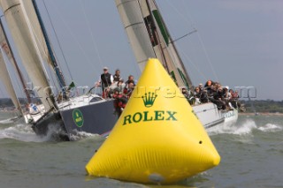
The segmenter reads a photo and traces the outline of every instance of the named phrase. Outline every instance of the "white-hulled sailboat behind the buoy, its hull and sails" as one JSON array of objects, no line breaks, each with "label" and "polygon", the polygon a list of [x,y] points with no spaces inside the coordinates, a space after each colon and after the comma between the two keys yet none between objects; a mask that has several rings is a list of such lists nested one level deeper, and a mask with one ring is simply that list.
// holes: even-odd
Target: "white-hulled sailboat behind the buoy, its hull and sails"
[{"label": "white-hulled sailboat behind the buoy, its hull and sails", "polygon": [[[150,57],[158,58],[177,86],[193,88],[155,0],[115,0],[126,35],[141,71]],[[205,128],[238,118],[237,109],[218,110],[212,102],[193,106]]]}]

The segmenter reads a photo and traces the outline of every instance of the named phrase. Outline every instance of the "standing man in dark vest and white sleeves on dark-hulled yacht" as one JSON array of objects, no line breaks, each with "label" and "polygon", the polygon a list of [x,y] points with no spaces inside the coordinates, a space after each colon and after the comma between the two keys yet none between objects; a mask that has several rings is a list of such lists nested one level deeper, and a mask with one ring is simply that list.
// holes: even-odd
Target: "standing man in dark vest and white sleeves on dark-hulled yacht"
[{"label": "standing man in dark vest and white sleeves on dark-hulled yacht", "polygon": [[113,75],[108,72],[108,67],[103,67],[103,74],[100,75],[99,81],[96,86],[103,87],[103,98],[107,98],[110,93],[110,86],[113,84]]}]

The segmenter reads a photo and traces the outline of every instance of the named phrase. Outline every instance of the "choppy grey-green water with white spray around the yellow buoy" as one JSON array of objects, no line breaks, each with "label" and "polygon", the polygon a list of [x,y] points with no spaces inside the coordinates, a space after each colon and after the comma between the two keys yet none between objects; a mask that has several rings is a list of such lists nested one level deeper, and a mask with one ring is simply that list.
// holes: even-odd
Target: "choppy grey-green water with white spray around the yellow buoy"
[{"label": "choppy grey-green water with white spray around the yellow buoy", "polygon": [[283,187],[283,117],[240,116],[210,133],[218,167],[173,185],[126,183],[87,177],[85,165],[104,138],[81,134],[55,142],[0,113],[0,187]]}]

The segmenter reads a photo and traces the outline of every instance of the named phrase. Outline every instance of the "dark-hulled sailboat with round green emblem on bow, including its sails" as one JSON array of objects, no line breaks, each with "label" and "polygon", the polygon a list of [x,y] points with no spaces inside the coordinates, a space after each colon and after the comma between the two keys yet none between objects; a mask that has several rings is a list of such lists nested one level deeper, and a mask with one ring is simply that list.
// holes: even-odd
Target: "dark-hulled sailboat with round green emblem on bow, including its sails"
[{"label": "dark-hulled sailboat with round green emblem on bow, including its sails", "polygon": [[[11,32],[22,64],[34,86],[41,104],[25,115],[36,134],[46,135],[53,130],[55,136],[70,140],[77,132],[104,134],[111,131],[118,116],[114,114],[113,100],[97,94],[68,97],[68,86],[54,56],[48,34],[42,24],[34,0],[0,0],[0,6]],[[63,102],[55,99],[49,76],[44,68],[49,64],[57,78]]]}]

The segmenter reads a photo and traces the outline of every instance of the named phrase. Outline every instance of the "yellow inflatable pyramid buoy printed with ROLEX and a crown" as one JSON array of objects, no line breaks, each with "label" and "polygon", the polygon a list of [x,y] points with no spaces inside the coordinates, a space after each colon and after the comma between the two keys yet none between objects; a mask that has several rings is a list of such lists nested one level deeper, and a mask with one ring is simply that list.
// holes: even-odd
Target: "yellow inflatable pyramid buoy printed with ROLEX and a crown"
[{"label": "yellow inflatable pyramid buoy printed with ROLEX and a crown", "polygon": [[169,184],[217,166],[220,156],[157,59],[149,59],[88,175]]}]

